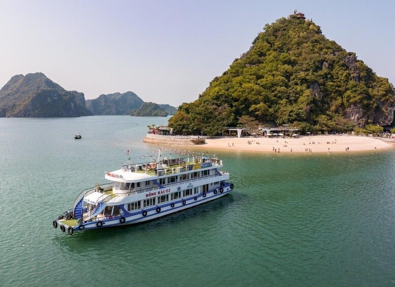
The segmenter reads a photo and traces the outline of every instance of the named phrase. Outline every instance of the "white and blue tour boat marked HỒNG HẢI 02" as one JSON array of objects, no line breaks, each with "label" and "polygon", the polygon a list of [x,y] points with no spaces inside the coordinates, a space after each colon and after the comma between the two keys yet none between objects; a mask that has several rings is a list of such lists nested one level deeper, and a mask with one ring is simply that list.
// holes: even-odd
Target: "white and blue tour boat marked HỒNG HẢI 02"
[{"label": "white and blue tour boat marked H\u1ed2NG H\u1ea2I 02", "polygon": [[[129,151],[128,151],[129,154]],[[82,190],[73,208],[53,220],[70,235],[77,231],[136,224],[218,199],[233,190],[217,156],[129,161],[105,173],[111,183]]]}]

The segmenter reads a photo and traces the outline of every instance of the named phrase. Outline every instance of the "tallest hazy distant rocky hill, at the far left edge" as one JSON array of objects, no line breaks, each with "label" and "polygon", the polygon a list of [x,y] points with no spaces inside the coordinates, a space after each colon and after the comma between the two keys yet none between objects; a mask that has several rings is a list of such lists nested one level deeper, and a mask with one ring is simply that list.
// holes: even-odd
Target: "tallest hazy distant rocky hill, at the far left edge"
[{"label": "tallest hazy distant rocky hill, at the far left edge", "polygon": [[88,115],[83,93],[67,91],[43,73],[16,75],[0,90],[0,117]]}]

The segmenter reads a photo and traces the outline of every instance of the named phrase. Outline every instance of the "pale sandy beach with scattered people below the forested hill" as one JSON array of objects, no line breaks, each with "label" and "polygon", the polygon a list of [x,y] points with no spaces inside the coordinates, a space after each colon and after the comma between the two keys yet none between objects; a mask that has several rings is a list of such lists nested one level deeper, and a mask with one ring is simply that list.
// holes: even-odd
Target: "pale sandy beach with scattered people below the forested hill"
[{"label": "pale sandy beach with scattered people below the forested hill", "polygon": [[[249,143],[250,142],[250,143]],[[206,139],[205,148],[280,153],[332,153],[386,150],[394,144],[369,137],[348,135],[303,136],[300,138],[216,138]]]}]

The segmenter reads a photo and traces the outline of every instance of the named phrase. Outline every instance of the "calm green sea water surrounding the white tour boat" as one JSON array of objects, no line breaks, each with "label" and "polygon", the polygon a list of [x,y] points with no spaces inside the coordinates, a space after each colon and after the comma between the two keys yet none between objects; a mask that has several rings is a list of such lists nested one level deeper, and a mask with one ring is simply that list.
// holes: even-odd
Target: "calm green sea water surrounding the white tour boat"
[{"label": "calm green sea water surrounding the white tour boat", "polygon": [[147,125],[167,119],[0,118],[0,286],[395,285],[393,150],[223,152],[235,188],[221,199],[135,226],[52,228],[128,149],[153,154]]}]

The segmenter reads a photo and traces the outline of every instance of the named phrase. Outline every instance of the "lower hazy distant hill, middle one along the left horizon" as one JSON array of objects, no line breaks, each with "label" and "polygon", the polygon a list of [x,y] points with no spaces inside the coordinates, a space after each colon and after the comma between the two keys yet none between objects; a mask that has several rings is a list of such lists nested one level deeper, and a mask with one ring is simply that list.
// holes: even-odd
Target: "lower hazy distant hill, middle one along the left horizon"
[{"label": "lower hazy distant hill, middle one along the left horizon", "polygon": [[94,115],[130,115],[132,110],[140,108],[143,103],[137,94],[127,91],[101,94],[94,100],[86,100],[86,107]]}]

